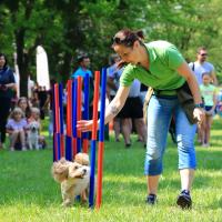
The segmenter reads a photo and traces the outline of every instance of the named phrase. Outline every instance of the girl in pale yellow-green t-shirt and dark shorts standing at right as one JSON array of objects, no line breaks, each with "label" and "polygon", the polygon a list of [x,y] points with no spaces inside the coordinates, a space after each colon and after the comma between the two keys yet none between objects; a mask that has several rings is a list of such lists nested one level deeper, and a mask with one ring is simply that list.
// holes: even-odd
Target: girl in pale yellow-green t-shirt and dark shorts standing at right
[{"label": "girl in pale yellow-green t-shirt and dark shorts standing at right", "polygon": [[205,121],[201,127],[201,143],[202,147],[210,147],[211,125],[216,105],[216,88],[211,84],[211,77],[208,72],[202,74],[202,84],[200,85],[201,95],[204,99]]}]

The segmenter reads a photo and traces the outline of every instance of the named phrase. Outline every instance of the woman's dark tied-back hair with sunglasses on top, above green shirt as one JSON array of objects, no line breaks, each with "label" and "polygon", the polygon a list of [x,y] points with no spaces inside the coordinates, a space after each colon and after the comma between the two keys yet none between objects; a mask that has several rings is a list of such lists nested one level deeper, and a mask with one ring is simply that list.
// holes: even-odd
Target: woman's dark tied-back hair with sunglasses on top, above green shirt
[{"label": "woman's dark tied-back hair with sunglasses on top, above green shirt", "polygon": [[112,39],[112,47],[115,44],[123,44],[125,47],[132,47],[135,41],[142,43],[144,39],[143,31],[131,31],[129,29],[122,29]]}]

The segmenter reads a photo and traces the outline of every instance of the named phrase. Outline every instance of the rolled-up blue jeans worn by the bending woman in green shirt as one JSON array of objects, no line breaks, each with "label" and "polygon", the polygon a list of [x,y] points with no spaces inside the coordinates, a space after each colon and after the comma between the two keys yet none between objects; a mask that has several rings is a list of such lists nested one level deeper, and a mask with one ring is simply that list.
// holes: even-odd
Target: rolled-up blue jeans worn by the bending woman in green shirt
[{"label": "rolled-up blue jeans worn by the bending woman in green shirt", "polygon": [[144,164],[145,175],[162,173],[163,153],[172,115],[175,119],[175,135],[179,152],[179,169],[195,169],[195,124],[190,124],[176,97],[152,95],[148,107],[148,141]]}]

